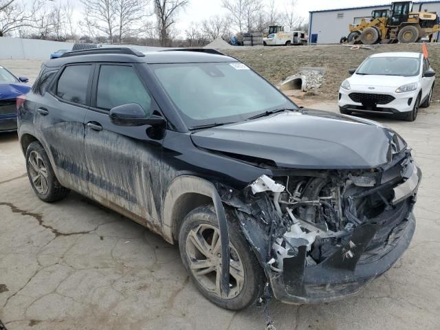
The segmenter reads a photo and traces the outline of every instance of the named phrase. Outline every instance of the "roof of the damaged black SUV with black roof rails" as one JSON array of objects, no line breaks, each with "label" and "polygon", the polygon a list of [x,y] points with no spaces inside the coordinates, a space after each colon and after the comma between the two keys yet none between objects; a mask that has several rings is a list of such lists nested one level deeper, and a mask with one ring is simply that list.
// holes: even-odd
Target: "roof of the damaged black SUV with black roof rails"
[{"label": "roof of the damaged black SUV with black roof rails", "polygon": [[[108,52],[107,52],[108,50]],[[165,50],[158,52],[128,51],[120,48],[120,52],[109,49],[90,50],[67,53],[61,58],[47,61],[47,67],[61,67],[69,63],[84,62],[119,62],[119,63],[209,63],[209,62],[237,62],[235,58],[223,55],[213,50]],[[97,54],[99,53],[99,54]]]}]

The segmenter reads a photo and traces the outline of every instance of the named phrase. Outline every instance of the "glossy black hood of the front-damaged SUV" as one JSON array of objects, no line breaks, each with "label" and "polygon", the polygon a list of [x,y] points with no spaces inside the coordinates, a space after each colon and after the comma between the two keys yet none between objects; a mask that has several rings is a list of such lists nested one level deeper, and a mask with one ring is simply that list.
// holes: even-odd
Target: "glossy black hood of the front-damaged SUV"
[{"label": "glossy black hood of the front-damaged SUV", "polygon": [[[268,159],[284,168],[376,168],[404,140],[376,122],[327,111],[286,111],[191,134],[201,148]],[[393,142],[394,139],[394,142]],[[397,147],[396,145],[397,141]],[[232,157],[234,157],[232,155]]]}]

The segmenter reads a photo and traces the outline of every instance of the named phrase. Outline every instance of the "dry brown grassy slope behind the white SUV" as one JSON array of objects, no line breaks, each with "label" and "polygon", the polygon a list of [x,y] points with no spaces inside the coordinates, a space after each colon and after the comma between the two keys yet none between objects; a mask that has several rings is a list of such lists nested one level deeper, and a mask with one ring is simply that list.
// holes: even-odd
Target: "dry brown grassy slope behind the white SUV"
[{"label": "dry brown grassy slope behind the white SUV", "polygon": [[[427,47],[431,66],[440,73],[440,44]],[[274,84],[296,74],[300,67],[325,67],[325,83],[316,94],[322,100],[336,100],[342,81],[350,76],[348,70],[358,67],[366,56],[377,52],[421,52],[421,44],[376,45],[375,50],[350,50],[342,45],[236,47],[221,52],[243,61]],[[440,84],[434,88],[433,97],[440,99]]]}]

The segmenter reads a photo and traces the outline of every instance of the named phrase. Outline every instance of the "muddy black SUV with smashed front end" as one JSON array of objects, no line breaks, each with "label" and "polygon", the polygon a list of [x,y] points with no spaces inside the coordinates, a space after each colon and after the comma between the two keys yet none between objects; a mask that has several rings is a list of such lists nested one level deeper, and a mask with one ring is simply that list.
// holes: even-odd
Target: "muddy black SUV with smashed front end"
[{"label": "muddy black SUV with smashed front end", "polygon": [[212,50],[70,52],[19,104],[30,184],[75,190],[178,243],[195,285],[242,309],[356,294],[415,230],[421,172],[380,124],[300,109]]}]

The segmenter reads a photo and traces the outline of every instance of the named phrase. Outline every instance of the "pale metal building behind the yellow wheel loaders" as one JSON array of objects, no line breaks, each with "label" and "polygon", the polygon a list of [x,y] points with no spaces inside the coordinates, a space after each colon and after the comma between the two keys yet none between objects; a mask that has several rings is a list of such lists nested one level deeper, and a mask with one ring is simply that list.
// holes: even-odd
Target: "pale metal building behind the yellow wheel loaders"
[{"label": "pale metal building behind the yellow wheel loaders", "polygon": [[[339,43],[342,36],[349,34],[349,25],[358,24],[363,18],[371,17],[373,10],[391,9],[386,5],[316,10],[309,12],[309,43]],[[412,3],[412,11],[428,10],[440,14],[440,1],[419,1]],[[440,40],[439,32],[434,39]]]}]

